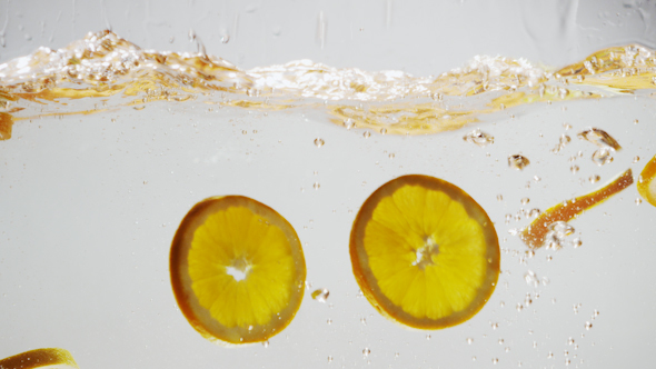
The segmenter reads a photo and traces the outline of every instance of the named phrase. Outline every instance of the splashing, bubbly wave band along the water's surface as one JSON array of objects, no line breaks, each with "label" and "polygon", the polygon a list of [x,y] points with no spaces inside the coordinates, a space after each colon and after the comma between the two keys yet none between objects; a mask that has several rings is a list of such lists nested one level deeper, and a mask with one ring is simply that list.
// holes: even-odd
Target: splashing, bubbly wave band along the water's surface
[{"label": "splashing, bubbly wave band along the water's surface", "polygon": [[[655,83],[654,51],[635,44],[600,50],[557,71],[524,59],[478,56],[437,77],[414,77],[310,60],[241,70],[202,50],[142,50],[101,31],[0,64],[0,139],[11,137],[12,122],[21,119],[161,100],[251,110],[311,107],[325,109],[336,124],[351,122],[349,128],[435,133],[540,101],[653,94]],[[88,103],[72,103],[81,100]]]}]

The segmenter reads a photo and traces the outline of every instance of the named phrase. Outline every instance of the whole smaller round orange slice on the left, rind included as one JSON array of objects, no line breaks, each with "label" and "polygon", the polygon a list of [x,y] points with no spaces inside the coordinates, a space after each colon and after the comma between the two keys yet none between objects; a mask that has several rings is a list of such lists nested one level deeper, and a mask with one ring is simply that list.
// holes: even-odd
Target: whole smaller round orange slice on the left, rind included
[{"label": "whole smaller round orange slice on the left, rind included", "polygon": [[274,209],[241,196],[200,201],[170,253],[180,310],[217,343],[266,341],[300,307],[306,265],[296,231]]}]

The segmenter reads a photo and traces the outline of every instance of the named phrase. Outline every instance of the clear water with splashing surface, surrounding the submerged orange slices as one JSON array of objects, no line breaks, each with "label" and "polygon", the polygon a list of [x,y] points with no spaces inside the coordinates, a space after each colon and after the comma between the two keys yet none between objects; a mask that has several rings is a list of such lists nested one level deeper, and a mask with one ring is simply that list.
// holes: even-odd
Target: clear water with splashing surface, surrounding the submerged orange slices
[{"label": "clear water with splashing surface, surrounding the submerged orange slices", "polygon": [[[656,302],[644,290],[655,216],[646,201],[636,207],[635,186],[580,213],[573,230],[554,226],[573,247],[528,250],[508,232],[539,215],[529,202],[549,209],[628,168],[639,173],[633,158],[654,154],[653,51],[616,47],[594,60],[549,69],[477,57],[437,77],[308,60],[242,70],[105,32],[3,64],[0,316],[10,318],[0,356],[59,346],[82,368],[269,368],[292,357],[301,367],[543,367],[560,365],[564,350],[571,366],[589,368],[648,358],[656,321],[632,311]],[[622,143],[612,162],[597,166],[589,158],[603,148],[565,138],[589,128]],[[529,163],[516,158],[509,168],[513,156]],[[499,236],[495,293],[446,330],[404,329],[357,298],[355,215],[378,186],[407,173],[461,187]],[[270,342],[226,349],[178,311],[168,251],[193,203],[231,193],[287,218],[308,280],[330,290],[330,303],[306,293]]]}]

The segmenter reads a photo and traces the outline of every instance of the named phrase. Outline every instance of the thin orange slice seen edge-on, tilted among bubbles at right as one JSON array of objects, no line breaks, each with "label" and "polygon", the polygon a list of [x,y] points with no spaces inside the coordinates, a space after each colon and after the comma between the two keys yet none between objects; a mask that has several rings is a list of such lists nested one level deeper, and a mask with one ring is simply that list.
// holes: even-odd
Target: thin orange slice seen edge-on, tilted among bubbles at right
[{"label": "thin orange slice seen edge-on, tilted among bubbles at right", "polygon": [[524,229],[519,235],[519,238],[529,248],[540,248],[544,246],[545,237],[549,231],[549,225],[556,221],[569,221],[585,210],[607,200],[613,195],[624,190],[634,182],[632,170],[628,169],[610,183],[605,187],[593,191],[588,195],[577,197],[574,202],[567,201],[567,205],[558,203],[557,206],[549,208],[537,217],[529,227]]}]

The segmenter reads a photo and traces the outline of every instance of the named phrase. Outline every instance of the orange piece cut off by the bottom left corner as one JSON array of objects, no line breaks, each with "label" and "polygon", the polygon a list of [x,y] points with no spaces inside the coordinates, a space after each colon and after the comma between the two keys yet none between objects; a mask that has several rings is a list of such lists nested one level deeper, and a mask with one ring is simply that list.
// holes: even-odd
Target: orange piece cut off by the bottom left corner
[{"label": "orange piece cut off by the bottom left corner", "polygon": [[2,369],[79,369],[72,355],[64,349],[37,349],[1,359]]}]

